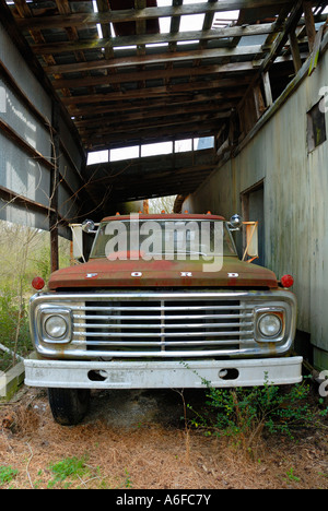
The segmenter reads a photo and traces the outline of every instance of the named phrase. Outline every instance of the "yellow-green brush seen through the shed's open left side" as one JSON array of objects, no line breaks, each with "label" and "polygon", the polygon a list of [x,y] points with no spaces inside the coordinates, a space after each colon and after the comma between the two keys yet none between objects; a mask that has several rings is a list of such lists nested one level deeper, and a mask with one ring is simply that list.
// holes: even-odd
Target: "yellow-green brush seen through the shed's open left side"
[{"label": "yellow-green brush seen through the shed's open left side", "polygon": [[[32,350],[27,306],[34,294],[35,276],[50,274],[49,233],[0,222],[0,344],[10,350],[0,354],[0,370],[5,371]],[[70,264],[69,242],[60,240],[60,265]]]}]

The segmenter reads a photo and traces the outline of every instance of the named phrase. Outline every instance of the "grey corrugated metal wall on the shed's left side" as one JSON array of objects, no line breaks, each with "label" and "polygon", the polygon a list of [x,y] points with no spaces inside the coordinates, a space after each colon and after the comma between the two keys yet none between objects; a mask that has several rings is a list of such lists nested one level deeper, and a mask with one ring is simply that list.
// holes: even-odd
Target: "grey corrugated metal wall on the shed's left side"
[{"label": "grey corrugated metal wall on the shed's left side", "polygon": [[74,222],[81,207],[75,192],[85,158],[62,116],[54,154],[52,111],[54,99],[0,23],[0,219],[49,229],[56,158],[59,231],[67,236],[65,226]]}]

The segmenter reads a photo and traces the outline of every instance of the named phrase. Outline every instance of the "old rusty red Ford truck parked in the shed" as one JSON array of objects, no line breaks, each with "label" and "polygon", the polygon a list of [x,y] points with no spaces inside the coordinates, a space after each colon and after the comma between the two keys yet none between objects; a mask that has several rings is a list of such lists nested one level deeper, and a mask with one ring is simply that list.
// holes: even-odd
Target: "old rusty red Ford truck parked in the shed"
[{"label": "old rusty red Ford truck parked in the shed", "polygon": [[58,423],[79,423],[92,389],[302,380],[293,280],[238,259],[241,226],[212,214],[84,223],[95,236],[89,260],[55,272],[45,289],[35,278],[30,307],[25,383],[48,388]]}]

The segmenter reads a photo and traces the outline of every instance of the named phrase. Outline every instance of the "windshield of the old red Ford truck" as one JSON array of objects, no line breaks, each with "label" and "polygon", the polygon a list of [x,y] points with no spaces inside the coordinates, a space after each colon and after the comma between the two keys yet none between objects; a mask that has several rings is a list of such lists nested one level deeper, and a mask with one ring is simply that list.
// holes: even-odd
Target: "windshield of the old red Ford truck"
[{"label": "windshield of the old red Ford truck", "polygon": [[207,259],[237,255],[225,222],[115,219],[103,222],[91,259]]}]

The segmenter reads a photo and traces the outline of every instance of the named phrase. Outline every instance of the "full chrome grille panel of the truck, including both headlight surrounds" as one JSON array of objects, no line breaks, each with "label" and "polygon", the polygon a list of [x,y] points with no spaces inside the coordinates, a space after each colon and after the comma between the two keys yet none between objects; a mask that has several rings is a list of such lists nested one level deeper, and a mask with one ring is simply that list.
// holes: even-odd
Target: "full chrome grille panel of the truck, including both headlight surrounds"
[{"label": "full chrome grille panel of the truck, including both headlight surrounds", "polygon": [[[283,318],[277,338],[259,336],[260,314]],[[31,332],[48,358],[244,358],[286,354],[295,334],[296,300],[276,290],[110,290],[38,294]],[[69,319],[67,335],[45,333],[48,316]]]}]

